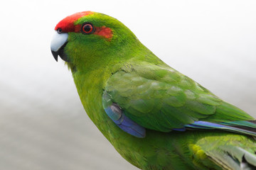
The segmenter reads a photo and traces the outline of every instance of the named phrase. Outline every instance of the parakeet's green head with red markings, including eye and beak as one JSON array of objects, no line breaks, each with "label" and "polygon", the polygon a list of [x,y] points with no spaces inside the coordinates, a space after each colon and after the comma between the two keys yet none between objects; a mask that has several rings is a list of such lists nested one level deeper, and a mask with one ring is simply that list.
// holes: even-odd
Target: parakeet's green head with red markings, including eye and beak
[{"label": "parakeet's green head with red markings, including eye and beak", "polygon": [[[102,13],[84,11],[67,16],[55,26],[50,44],[53,57],[68,63],[107,60],[107,55],[124,51],[139,42],[129,28]],[[131,49],[128,47],[128,49]]]}]

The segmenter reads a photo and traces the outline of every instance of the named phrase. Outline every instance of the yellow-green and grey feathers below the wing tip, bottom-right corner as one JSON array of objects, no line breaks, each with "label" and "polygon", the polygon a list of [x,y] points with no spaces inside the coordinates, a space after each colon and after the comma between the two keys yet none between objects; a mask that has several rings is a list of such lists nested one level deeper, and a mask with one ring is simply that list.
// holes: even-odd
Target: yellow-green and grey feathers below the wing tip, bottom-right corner
[{"label": "yellow-green and grey feathers below the wing tip, bottom-right corner", "polygon": [[196,132],[196,136],[196,143],[190,147],[193,162],[198,162],[200,169],[256,170],[253,136],[218,130]]}]

